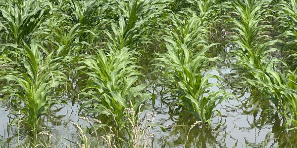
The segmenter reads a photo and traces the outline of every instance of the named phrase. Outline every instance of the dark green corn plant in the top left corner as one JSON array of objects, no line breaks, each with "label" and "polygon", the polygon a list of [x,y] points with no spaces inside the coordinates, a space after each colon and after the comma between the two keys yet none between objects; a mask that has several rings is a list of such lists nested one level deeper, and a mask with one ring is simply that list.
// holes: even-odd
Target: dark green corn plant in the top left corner
[{"label": "dark green corn plant in the top left corner", "polygon": [[28,35],[36,31],[49,12],[46,2],[42,5],[36,0],[5,0],[3,4],[0,17],[5,35],[1,39],[14,44],[22,43],[22,39],[29,41]]}]

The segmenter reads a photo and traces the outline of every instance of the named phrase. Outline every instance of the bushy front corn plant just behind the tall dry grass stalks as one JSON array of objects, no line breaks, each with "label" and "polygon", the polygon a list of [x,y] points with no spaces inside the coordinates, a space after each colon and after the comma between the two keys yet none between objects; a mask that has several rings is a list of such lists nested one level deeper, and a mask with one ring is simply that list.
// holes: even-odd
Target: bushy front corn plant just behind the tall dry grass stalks
[{"label": "bushy front corn plant just behind the tall dry grass stalks", "polygon": [[[140,104],[150,96],[143,94],[147,85],[133,85],[136,83],[138,73],[135,68],[134,51],[128,48],[104,53],[99,50],[96,56],[87,57],[83,61],[91,72],[86,72],[90,78],[89,85],[82,90],[81,94],[88,96],[90,100],[83,103],[80,111],[87,105],[94,107],[88,112],[97,112],[108,116],[120,131],[125,127],[124,110],[129,108],[128,101],[132,101],[135,111]],[[139,99],[136,97],[139,96]]]}]

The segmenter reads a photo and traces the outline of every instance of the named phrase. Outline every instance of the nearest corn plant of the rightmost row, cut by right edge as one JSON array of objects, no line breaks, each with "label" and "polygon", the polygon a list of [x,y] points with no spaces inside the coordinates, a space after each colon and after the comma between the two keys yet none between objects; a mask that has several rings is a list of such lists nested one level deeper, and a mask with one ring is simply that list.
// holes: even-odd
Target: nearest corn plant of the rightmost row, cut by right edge
[{"label": "nearest corn plant of the rightmost row, cut by right edge", "polygon": [[266,79],[255,78],[249,83],[258,83],[257,85],[263,94],[263,98],[272,103],[270,109],[278,112],[287,125],[297,125],[297,73],[288,70],[285,74],[274,72],[267,69]]}]

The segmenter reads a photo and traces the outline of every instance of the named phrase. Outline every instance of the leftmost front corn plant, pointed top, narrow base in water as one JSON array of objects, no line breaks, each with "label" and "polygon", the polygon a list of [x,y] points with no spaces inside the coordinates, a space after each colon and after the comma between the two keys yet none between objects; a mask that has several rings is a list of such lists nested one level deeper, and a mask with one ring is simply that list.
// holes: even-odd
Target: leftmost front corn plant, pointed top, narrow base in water
[{"label": "leftmost front corn plant, pointed top, narrow base in water", "polygon": [[57,63],[59,58],[51,59],[51,53],[44,61],[38,46],[35,40],[31,40],[30,47],[26,44],[24,46],[25,58],[22,56],[20,60],[24,64],[26,73],[14,72],[1,77],[1,79],[14,81],[18,86],[8,90],[17,98],[12,101],[17,107],[15,110],[19,110],[28,117],[27,123],[33,130],[33,134],[37,134],[41,116],[58,103],[49,93],[63,82],[62,79],[65,79],[59,71],[60,66]]}]

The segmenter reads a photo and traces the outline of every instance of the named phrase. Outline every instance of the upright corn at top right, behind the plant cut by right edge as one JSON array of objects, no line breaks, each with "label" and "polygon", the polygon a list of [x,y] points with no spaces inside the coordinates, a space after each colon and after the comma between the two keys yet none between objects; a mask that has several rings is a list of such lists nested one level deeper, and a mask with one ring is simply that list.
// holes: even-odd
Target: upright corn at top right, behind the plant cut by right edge
[{"label": "upright corn at top right, behind the plant cut by right edge", "polygon": [[[238,48],[230,52],[236,56],[237,68],[242,71],[257,69],[265,72],[270,63],[284,63],[269,55],[271,52],[278,51],[277,48],[269,47],[282,41],[272,40],[268,35],[264,35],[266,32],[263,30],[271,26],[261,25],[264,23],[262,20],[268,11],[266,7],[269,3],[270,0],[235,0],[232,3],[233,13],[239,16],[240,20],[237,18],[232,20],[236,26],[232,28],[236,33],[236,36],[233,36],[233,42],[238,45]],[[252,79],[256,74],[254,72],[256,71],[246,76]]]}]

